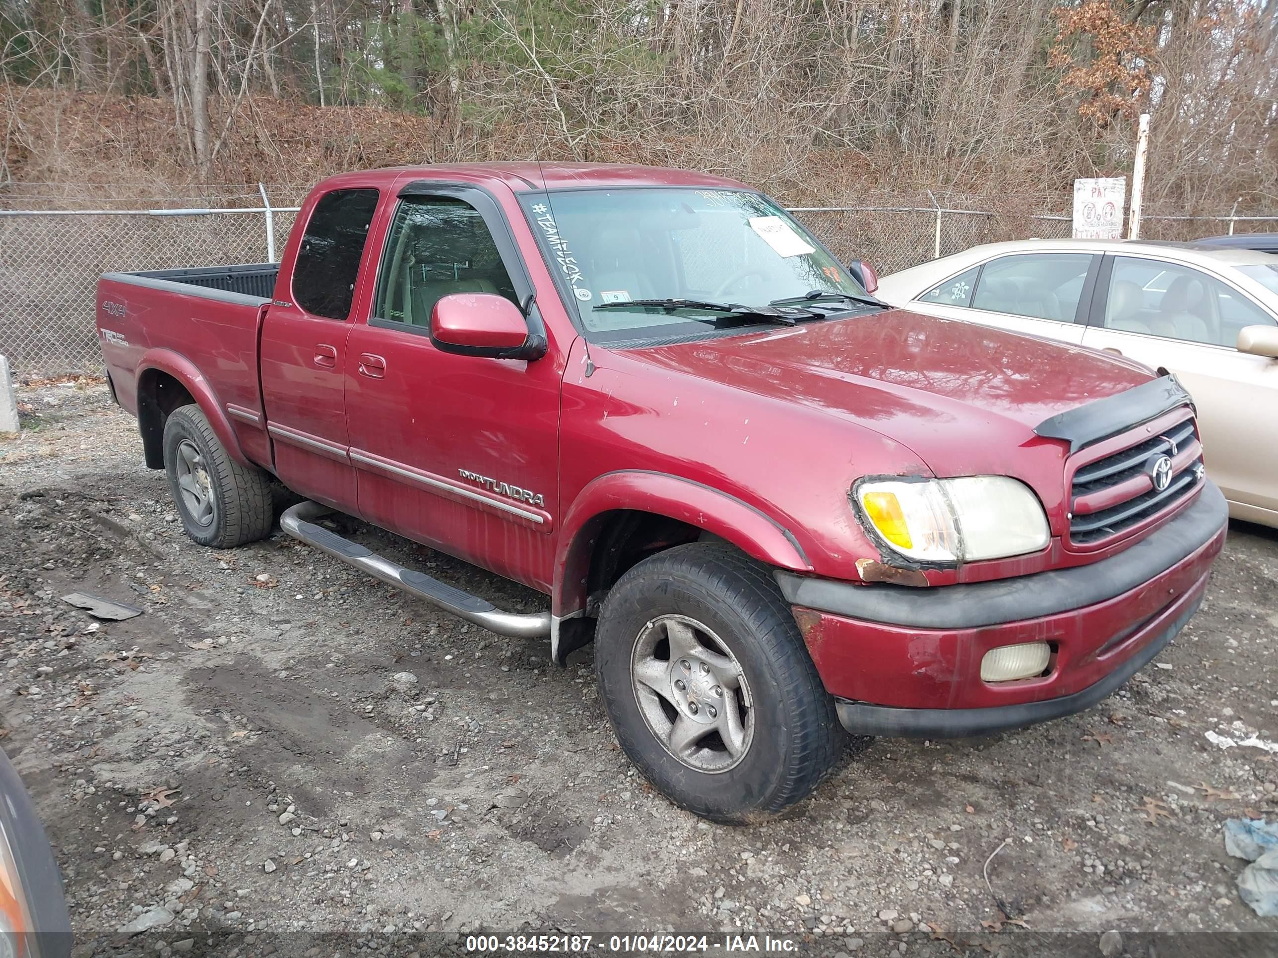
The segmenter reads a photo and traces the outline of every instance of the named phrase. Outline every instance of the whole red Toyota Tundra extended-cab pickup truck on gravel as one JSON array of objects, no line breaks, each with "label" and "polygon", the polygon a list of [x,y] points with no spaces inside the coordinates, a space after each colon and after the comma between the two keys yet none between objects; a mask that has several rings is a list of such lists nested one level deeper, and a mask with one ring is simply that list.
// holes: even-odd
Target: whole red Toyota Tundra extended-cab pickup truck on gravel
[{"label": "whole red Toyota Tundra extended-cab pickup truck on gravel", "polygon": [[97,326],[196,542],[267,535],[279,483],[305,497],[289,535],[560,663],[593,640],[630,759],[744,821],[806,795],[840,726],[967,736],[1099,701],[1224,542],[1173,378],[873,286],[731,180],[422,166],[320,184],[279,266],[104,276]]}]

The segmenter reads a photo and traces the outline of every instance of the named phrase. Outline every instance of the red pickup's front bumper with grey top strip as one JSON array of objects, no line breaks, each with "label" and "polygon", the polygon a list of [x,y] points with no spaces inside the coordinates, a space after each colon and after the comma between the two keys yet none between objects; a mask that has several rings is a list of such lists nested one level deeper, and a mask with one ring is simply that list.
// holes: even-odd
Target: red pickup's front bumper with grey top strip
[{"label": "red pickup's front bumper with grey top strip", "polygon": [[[843,727],[856,734],[987,734],[1090,708],[1185,627],[1224,544],[1210,482],[1176,519],[1089,566],[912,589],[777,572]],[[1001,645],[1045,641],[1045,674],[984,682]]]}]

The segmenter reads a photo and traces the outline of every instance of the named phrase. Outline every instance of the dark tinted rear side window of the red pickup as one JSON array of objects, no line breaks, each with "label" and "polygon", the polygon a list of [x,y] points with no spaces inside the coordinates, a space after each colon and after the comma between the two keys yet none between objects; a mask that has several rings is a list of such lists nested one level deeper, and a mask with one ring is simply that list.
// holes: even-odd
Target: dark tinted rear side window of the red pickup
[{"label": "dark tinted rear side window of the red pickup", "polygon": [[293,300],[313,316],[345,319],[377,209],[376,189],[335,189],[316,203],[293,267]]}]

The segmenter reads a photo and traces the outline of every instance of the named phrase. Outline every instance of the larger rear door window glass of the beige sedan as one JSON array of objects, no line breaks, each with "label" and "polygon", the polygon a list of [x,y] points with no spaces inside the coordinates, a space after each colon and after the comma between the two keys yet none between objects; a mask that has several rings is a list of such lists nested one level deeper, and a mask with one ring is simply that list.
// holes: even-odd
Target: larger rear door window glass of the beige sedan
[{"label": "larger rear door window glass of the beige sedan", "polygon": [[975,309],[1072,323],[1090,253],[1034,253],[985,263],[973,296]]}]

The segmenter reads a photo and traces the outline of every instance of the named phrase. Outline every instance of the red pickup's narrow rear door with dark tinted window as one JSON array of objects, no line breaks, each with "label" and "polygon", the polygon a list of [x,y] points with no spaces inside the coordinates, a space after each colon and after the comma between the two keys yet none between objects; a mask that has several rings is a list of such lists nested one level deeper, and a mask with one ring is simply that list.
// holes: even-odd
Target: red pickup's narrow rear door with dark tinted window
[{"label": "red pickup's narrow rear door with dark tinted window", "polygon": [[305,231],[285,253],[259,347],[276,475],[294,492],[348,512],[357,499],[344,395],[346,340],[377,199],[371,188],[334,189],[303,208]]}]

